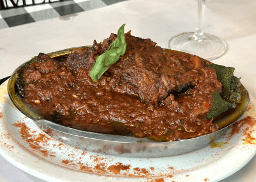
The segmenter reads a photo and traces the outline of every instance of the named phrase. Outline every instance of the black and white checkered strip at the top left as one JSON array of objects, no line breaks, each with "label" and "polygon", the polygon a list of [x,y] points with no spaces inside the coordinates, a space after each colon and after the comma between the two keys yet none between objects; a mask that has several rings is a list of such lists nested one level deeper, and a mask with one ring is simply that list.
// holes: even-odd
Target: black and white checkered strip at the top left
[{"label": "black and white checkered strip at the top left", "polygon": [[63,0],[0,10],[0,29],[85,12],[127,0]]}]

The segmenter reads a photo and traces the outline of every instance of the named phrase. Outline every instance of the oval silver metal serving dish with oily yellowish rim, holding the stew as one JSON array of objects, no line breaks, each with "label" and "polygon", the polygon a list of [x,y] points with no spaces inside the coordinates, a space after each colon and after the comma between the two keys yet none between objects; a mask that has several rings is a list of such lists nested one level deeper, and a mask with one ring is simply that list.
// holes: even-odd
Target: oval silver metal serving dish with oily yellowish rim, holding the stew
[{"label": "oval silver metal serving dish with oily yellowish rim, holding the stew", "polygon": [[[55,58],[57,56],[68,55],[72,52],[71,49],[60,50],[57,52],[48,53],[47,55]],[[205,60],[206,61],[206,60]],[[29,61],[27,61],[29,62]],[[219,130],[208,135],[199,136],[187,140],[172,141],[172,142],[156,142],[148,140],[147,138],[135,138],[131,136],[107,135],[101,133],[86,132],[82,130],[72,129],[69,127],[55,124],[51,121],[43,120],[40,115],[32,111],[22,99],[15,95],[15,79],[17,78],[18,70],[27,62],[18,67],[13,72],[8,83],[8,93],[13,104],[27,117],[34,120],[35,124],[41,130],[48,133],[56,140],[69,144],[70,146],[78,147],[98,153],[106,153],[108,155],[119,155],[122,157],[166,157],[171,155],[178,155],[181,153],[191,152],[207,144],[215,141],[221,136],[230,124],[237,121],[249,106],[249,94],[243,88],[243,95],[241,103],[238,104],[235,110],[232,110],[226,116],[223,116],[218,121]]]}]

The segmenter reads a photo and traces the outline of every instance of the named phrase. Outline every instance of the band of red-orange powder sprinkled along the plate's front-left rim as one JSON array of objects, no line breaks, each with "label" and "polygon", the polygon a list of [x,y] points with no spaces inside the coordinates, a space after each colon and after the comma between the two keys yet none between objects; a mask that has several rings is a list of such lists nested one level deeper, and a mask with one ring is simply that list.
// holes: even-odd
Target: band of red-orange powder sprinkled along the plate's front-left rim
[{"label": "band of red-orange powder sprinkled along the plate's front-left rim", "polygon": [[[59,161],[59,165],[71,170],[77,170],[80,172],[86,172],[88,174],[103,175],[105,177],[146,177],[148,180],[162,182],[165,178],[172,178],[173,174],[180,174],[187,172],[188,170],[176,170],[174,167],[167,167],[166,170],[155,172],[154,167],[131,168],[130,164],[123,164],[117,162],[113,164],[108,157],[101,157],[101,155],[90,155],[87,151],[77,149],[59,143],[46,133],[37,133],[35,130],[30,129],[24,121],[17,121],[13,126],[18,127],[20,130],[21,138],[29,144],[30,149],[34,151],[35,155],[44,158],[49,162]],[[49,141],[57,141],[58,143],[50,143]],[[12,146],[10,146],[12,147]],[[66,158],[61,160],[56,157],[56,153],[52,152],[52,149],[58,149],[61,155]],[[68,149],[68,150],[63,150]],[[123,150],[123,149],[122,149]],[[126,152],[126,151],[120,152]],[[39,154],[38,154],[39,153]],[[41,155],[40,155],[41,154]],[[87,160],[83,160],[85,155],[88,155],[93,163],[88,163]],[[48,159],[48,157],[51,157]],[[54,162],[52,162],[54,163]],[[55,163],[54,163],[55,164]]]}]

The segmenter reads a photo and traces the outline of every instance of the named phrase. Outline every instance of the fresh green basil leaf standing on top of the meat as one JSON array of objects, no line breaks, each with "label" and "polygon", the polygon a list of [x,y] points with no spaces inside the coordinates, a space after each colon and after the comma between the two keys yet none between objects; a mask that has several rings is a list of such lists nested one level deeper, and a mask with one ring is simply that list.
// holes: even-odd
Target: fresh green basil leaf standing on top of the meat
[{"label": "fresh green basil leaf standing on top of the meat", "polygon": [[102,55],[98,56],[93,68],[90,71],[91,79],[96,82],[103,73],[116,61],[119,60],[120,56],[123,56],[126,52],[126,38],[124,36],[124,25],[123,24],[116,36],[115,41],[108,47],[107,51]]}]

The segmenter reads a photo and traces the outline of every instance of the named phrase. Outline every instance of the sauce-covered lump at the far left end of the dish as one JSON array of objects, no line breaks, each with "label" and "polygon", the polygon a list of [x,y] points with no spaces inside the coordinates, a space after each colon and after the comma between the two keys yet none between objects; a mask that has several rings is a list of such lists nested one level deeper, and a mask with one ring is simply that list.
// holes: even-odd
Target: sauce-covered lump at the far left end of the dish
[{"label": "sauce-covered lump at the far left end of the dish", "polygon": [[[44,54],[37,56],[35,62],[24,70],[24,80],[27,83],[25,101],[29,98],[35,104],[68,93],[74,84],[72,73],[62,67],[60,62]],[[52,113],[54,111],[51,110]]]}]

